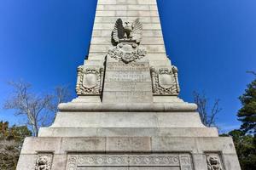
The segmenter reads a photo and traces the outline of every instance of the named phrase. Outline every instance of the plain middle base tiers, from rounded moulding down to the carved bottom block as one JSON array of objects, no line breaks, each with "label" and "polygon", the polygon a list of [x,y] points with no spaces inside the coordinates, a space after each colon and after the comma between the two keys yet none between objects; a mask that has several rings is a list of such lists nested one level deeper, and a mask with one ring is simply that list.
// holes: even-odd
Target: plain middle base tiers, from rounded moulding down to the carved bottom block
[{"label": "plain middle base tiers, from rounded moulding down to the carved bottom block", "polygon": [[39,137],[218,137],[216,127],[201,123],[196,105],[186,102],[70,102],[61,104],[59,109],[53,125],[40,128]]}]

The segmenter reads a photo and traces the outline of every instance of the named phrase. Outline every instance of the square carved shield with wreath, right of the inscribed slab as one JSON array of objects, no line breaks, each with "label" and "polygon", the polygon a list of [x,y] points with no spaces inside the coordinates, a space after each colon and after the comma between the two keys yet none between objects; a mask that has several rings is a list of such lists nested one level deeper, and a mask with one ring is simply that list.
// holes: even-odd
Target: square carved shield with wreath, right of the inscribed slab
[{"label": "square carved shield with wreath, right of the inscribed slab", "polygon": [[156,69],[151,67],[152,88],[154,95],[178,95],[180,92],[177,67]]}]

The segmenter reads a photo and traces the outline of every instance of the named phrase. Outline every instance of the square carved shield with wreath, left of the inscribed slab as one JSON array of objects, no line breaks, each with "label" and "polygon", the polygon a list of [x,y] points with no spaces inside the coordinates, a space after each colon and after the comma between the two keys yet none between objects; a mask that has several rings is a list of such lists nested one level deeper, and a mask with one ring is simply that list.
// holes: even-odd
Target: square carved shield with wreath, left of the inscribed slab
[{"label": "square carved shield with wreath, left of the inscribed slab", "polygon": [[76,91],[78,95],[99,95],[102,94],[103,68],[84,67],[78,68],[78,82]]}]

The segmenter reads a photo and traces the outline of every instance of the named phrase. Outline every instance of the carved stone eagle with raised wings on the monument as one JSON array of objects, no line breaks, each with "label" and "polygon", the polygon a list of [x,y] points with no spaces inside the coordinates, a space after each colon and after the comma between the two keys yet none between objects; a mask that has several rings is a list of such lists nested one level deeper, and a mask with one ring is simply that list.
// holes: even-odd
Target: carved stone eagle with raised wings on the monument
[{"label": "carved stone eagle with raised wings on the monument", "polygon": [[141,42],[142,31],[143,24],[139,19],[135,20],[132,24],[130,22],[125,22],[125,25],[123,24],[123,20],[118,19],[113,28],[113,42],[119,43],[121,40],[124,40],[139,43]]}]

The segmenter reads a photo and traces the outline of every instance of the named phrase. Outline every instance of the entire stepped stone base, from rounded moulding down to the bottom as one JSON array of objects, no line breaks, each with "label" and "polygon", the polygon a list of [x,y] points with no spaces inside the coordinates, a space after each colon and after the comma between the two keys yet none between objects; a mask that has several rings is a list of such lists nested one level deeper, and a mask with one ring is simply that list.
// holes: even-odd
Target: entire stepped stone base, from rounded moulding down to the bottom
[{"label": "entire stepped stone base, from rounded moulding down to the bottom", "polygon": [[205,127],[194,104],[59,109],[52,126],[26,138],[17,170],[241,170],[232,139]]}]

